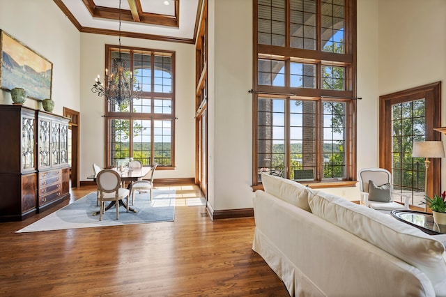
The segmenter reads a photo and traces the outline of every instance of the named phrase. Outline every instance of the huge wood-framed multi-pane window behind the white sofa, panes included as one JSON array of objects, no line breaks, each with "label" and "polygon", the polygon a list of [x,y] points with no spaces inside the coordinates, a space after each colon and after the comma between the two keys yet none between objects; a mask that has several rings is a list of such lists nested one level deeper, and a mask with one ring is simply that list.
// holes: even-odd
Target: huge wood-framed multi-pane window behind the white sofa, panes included
[{"label": "huge wood-framed multi-pane window behind the white sofa, panes included", "polygon": [[254,1],[254,185],[355,181],[355,7]]}]

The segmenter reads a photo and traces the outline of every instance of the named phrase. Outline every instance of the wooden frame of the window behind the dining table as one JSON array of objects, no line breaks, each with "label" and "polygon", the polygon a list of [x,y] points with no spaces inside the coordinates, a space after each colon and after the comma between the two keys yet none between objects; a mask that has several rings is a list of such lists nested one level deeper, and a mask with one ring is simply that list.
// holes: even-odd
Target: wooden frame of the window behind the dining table
[{"label": "wooden frame of the window behind the dining table", "polygon": [[[112,52],[116,52],[120,47],[117,45],[105,45],[105,65],[107,69],[111,69],[112,65]],[[104,110],[105,110],[105,165],[106,167],[112,167],[112,120],[129,120],[130,121],[130,134],[132,134],[132,123],[133,120],[147,120],[151,121],[151,139],[153,139],[153,129],[154,129],[154,121],[163,121],[169,120],[171,121],[171,165],[162,166],[158,165],[157,170],[174,170],[175,169],[175,122],[176,122],[176,112],[175,112],[175,54],[174,51],[169,50],[153,50],[148,48],[141,47],[125,47],[121,46],[121,52],[130,52],[130,65],[128,66],[129,70],[133,72],[133,54],[144,53],[151,54],[151,91],[143,91],[141,98],[151,99],[151,112],[132,112],[132,102],[130,103],[130,112],[114,112],[111,111],[112,105],[109,104],[107,100],[104,100]],[[160,93],[155,92],[154,84],[155,84],[155,75],[153,74],[155,71],[155,56],[157,54],[165,54],[171,57],[171,93]],[[157,99],[169,99],[171,100],[171,113],[170,114],[160,114],[154,112],[154,102]],[[133,155],[133,137],[130,137],[130,157]],[[151,141],[151,160],[150,164],[153,165],[155,162],[154,155],[154,142]]]}]

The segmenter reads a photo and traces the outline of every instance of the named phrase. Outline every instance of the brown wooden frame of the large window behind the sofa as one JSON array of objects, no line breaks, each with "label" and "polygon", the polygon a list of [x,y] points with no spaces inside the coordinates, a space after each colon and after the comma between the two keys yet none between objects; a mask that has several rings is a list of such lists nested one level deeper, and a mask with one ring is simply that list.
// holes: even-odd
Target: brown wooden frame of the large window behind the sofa
[{"label": "brown wooden frame of the large window behind the sofa", "polygon": [[[316,50],[304,50],[290,47],[291,33],[290,33],[290,17],[291,1],[285,1],[285,46],[265,45],[258,43],[258,1],[253,1],[253,90],[252,91],[252,114],[253,114],[253,145],[252,145],[252,185],[254,190],[261,188],[261,182],[258,180],[258,101],[259,98],[266,97],[268,94],[270,98],[291,98],[295,100],[333,100],[346,102],[346,135],[345,135],[345,166],[346,178],[343,180],[321,180],[319,178],[315,181],[309,181],[312,188],[325,187],[339,187],[339,186],[355,186],[357,169],[356,169],[356,0],[345,0],[345,19],[344,19],[344,33],[345,33],[345,47],[344,54],[333,52],[323,52],[321,47],[321,0],[316,0]],[[258,61],[270,56],[271,59],[283,60],[285,63],[285,86],[268,86],[259,84],[258,81]],[[312,63],[316,65],[316,88],[298,88],[291,87],[290,84],[290,63]],[[344,70],[344,85],[345,89],[330,90],[322,89],[323,75],[322,66],[342,66]],[[319,111],[321,109],[318,109]],[[317,115],[319,118],[321,114]],[[318,120],[318,123],[320,121]],[[289,127],[287,127],[288,129]],[[322,127],[317,128],[316,139],[321,137]],[[289,145],[287,143],[286,145]],[[321,148],[316,148],[316,158],[320,159],[322,152]],[[289,166],[287,162],[286,166]],[[318,165],[322,167],[322,165]],[[320,175],[318,172],[316,176]],[[307,183],[307,182],[306,182]]]}]

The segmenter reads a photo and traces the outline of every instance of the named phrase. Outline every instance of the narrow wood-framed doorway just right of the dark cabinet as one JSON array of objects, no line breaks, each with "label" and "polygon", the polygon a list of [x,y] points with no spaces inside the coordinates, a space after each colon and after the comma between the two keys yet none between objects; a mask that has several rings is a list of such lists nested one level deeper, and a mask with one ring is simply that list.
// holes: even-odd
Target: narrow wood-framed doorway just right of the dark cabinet
[{"label": "narrow wood-framed doorway just right of the dark cabinet", "polygon": [[68,162],[70,163],[71,188],[79,188],[79,120],[80,113],[63,107],[63,116],[70,119],[68,123]]}]

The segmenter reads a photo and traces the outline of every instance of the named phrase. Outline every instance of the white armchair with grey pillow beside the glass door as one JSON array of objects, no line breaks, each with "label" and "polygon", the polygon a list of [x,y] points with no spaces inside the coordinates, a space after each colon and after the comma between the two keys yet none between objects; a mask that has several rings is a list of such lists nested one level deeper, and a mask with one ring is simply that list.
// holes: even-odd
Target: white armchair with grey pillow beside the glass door
[{"label": "white armchair with grey pillow beside the glass door", "polygon": [[[383,168],[365,168],[358,172],[360,182],[361,204],[374,208],[382,213],[390,213],[396,209],[409,209],[408,195],[394,192],[392,186],[392,174]],[[394,196],[399,196],[404,204],[394,201]]]}]

